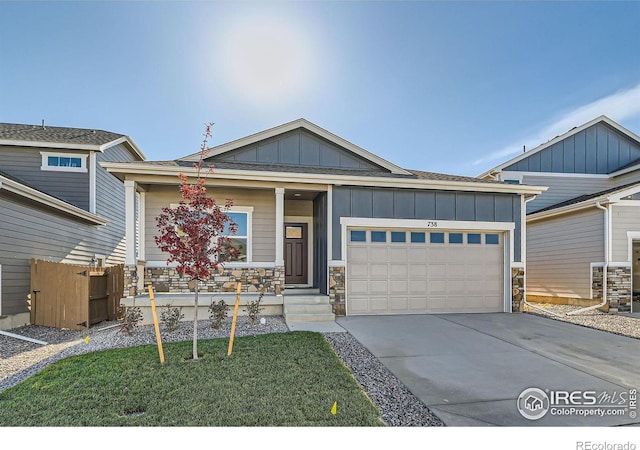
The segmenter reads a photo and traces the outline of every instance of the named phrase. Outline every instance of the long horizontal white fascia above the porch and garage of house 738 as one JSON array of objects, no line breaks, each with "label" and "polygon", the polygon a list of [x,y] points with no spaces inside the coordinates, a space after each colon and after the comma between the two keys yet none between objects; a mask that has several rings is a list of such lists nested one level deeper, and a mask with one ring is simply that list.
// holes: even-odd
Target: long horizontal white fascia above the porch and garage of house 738
[{"label": "long horizontal white fascia above the porch and garage of house 738", "polygon": [[[189,167],[161,167],[153,165],[130,165],[121,163],[101,163],[111,173],[131,175],[172,176],[195,174]],[[538,195],[546,191],[546,186],[530,186],[524,184],[499,184],[468,181],[423,180],[417,178],[370,177],[351,175],[331,175],[318,173],[267,172],[260,170],[216,169],[207,174],[207,179],[251,180],[277,183],[331,184],[335,186],[365,186],[406,189],[441,189],[457,191],[494,192],[519,195]]]}]

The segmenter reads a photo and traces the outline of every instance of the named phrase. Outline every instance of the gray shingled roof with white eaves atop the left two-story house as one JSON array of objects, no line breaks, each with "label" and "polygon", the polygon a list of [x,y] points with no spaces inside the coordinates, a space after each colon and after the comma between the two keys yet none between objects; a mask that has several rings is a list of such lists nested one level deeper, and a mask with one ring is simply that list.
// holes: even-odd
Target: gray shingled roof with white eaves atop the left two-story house
[{"label": "gray shingled roof with white eaves atop the left two-story house", "polygon": [[126,143],[140,160],[145,159],[133,139],[124,134],[85,128],[0,123],[0,145],[103,152],[121,143]]}]

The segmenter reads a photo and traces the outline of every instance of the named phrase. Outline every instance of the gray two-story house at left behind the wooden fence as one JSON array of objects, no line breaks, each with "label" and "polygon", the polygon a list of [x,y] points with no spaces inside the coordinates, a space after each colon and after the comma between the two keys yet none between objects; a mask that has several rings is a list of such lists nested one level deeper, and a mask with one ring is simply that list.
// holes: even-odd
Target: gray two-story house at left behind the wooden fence
[{"label": "gray two-story house at left behind the wooden fence", "polygon": [[0,329],[29,323],[31,258],[124,262],[124,186],[99,163],[143,159],[121,134],[0,123]]}]

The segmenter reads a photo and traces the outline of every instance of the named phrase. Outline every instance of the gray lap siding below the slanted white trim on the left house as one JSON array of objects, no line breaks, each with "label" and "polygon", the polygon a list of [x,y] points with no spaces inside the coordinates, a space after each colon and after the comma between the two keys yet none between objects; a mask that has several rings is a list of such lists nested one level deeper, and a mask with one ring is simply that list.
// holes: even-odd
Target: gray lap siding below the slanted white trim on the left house
[{"label": "gray lap siding below the slanted white trim on the left house", "polygon": [[0,190],[0,264],[2,313],[27,312],[31,258],[89,264],[113,248],[100,239],[99,226],[82,223],[52,209]]}]

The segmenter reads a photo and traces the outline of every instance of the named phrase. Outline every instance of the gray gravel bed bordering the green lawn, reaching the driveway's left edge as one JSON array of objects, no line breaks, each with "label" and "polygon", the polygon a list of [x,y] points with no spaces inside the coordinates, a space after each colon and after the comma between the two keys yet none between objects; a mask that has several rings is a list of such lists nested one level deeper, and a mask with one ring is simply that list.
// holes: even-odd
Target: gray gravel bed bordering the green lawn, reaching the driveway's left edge
[{"label": "gray gravel bed bordering the green lawn, reaching the driveway's left edge", "polygon": [[[238,317],[236,336],[248,336],[289,331],[281,316],[266,316],[264,325],[251,326],[248,318]],[[48,342],[39,345],[0,335],[0,392],[40,372],[48,364],[60,359],[109,348],[133,347],[155,344],[152,325],[137,327],[128,336],[120,331],[117,322],[103,322],[87,331],[60,330],[57,328],[28,325],[13,330],[19,334]],[[198,322],[198,338],[228,337],[231,319],[224,326],[214,329],[209,321]],[[191,340],[193,324],[183,322],[168,332],[161,327],[163,342]],[[380,410],[382,420],[392,427],[444,426],[444,423],[413,395],[380,361],[349,333],[326,333],[338,357],[347,366],[371,401]],[[85,338],[89,338],[85,342]]]}]

